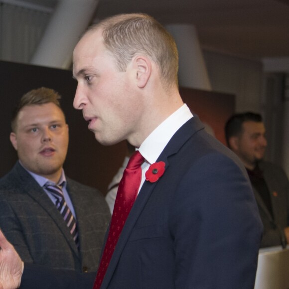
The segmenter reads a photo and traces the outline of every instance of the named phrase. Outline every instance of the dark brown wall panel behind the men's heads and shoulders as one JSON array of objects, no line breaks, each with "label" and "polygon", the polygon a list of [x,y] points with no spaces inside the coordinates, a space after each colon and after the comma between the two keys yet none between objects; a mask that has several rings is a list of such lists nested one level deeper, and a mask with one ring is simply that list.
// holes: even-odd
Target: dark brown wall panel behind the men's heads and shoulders
[{"label": "dark brown wall panel behind the men's heads and shoulders", "polygon": [[[103,146],[96,142],[82,113],[72,106],[76,85],[71,71],[0,61],[0,177],[17,159],[9,141],[15,102],[29,90],[43,86],[58,91],[62,96],[61,106],[69,125],[70,139],[65,173],[106,193],[108,184],[123,162],[126,143]],[[224,123],[234,112],[234,96],[186,88],[181,88],[180,92],[193,113],[198,114],[224,143]]]}]

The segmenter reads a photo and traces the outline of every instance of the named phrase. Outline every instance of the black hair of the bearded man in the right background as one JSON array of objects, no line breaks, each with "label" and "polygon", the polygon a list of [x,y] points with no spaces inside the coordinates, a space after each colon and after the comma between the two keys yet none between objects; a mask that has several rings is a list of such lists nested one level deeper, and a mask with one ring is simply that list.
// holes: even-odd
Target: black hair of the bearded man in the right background
[{"label": "black hair of the bearded man in the right background", "polygon": [[262,123],[263,119],[260,114],[252,112],[245,112],[232,115],[225,125],[226,142],[229,147],[230,147],[229,139],[231,137],[239,136],[243,132],[244,122]]}]

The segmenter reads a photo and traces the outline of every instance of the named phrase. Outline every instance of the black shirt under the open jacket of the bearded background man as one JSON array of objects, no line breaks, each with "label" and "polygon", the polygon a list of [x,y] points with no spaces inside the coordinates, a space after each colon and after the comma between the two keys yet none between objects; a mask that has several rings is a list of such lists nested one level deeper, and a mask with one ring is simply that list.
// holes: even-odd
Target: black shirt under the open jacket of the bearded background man
[{"label": "black shirt under the open jacket of the bearded background man", "polygon": [[253,170],[250,170],[248,168],[246,169],[247,169],[250,181],[252,183],[252,186],[255,187],[255,189],[258,191],[266,207],[268,208],[272,218],[274,219],[270,191],[265,182],[263,171],[259,168],[258,164]]}]

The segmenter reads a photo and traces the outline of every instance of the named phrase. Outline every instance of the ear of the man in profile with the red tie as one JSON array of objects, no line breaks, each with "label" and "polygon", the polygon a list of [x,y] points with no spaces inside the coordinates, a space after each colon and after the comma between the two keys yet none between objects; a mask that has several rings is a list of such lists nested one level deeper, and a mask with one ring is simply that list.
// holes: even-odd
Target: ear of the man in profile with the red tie
[{"label": "ear of the man in profile with the red tie", "polygon": [[144,88],[151,74],[151,62],[145,56],[137,56],[134,59],[136,80],[139,88]]}]

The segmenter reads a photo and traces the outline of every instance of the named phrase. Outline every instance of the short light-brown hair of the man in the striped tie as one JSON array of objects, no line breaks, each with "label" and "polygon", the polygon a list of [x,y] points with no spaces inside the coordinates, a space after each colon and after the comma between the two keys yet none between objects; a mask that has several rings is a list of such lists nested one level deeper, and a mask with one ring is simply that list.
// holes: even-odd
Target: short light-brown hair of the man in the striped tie
[{"label": "short light-brown hair of the man in the striped tie", "polygon": [[[12,132],[16,131],[17,128],[17,117],[20,110],[29,105],[42,105],[47,103],[54,103],[58,106],[61,111],[62,108],[60,106],[59,100],[61,99],[61,95],[54,91],[51,88],[41,87],[38,89],[32,89],[25,93],[16,104],[14,111],[12,113],[12,120],[11,120],[11,129]],[[62,111],[63,112],[63,111]]]}]

